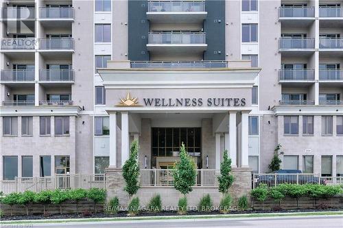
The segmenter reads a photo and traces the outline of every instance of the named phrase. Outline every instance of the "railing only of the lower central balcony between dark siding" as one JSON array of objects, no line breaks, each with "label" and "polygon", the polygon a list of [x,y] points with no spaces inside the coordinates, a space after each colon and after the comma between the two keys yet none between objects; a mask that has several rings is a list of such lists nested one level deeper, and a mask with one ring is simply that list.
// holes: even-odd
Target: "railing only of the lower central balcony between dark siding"
[{"label": "railing only of the lower central balcony between dark siding", "polygon": [[200,45],[206,43],[206,34],[197,33],[171,33],[151,32],[149,33],[149,44],[151,45]]}]

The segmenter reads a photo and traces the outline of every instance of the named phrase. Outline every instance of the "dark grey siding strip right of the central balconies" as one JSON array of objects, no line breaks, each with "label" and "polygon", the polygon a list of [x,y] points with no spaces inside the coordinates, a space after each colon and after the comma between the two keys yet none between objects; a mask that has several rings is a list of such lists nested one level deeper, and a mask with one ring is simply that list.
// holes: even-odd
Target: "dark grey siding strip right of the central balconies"
[{"label": "dark grey siding strip right of the central balconies", "polygon": [[225,60],[225,1],[205,1],[205,9],[207,51],[204,52],[204,60]]}]

